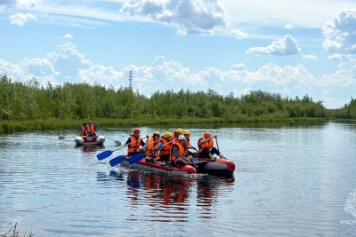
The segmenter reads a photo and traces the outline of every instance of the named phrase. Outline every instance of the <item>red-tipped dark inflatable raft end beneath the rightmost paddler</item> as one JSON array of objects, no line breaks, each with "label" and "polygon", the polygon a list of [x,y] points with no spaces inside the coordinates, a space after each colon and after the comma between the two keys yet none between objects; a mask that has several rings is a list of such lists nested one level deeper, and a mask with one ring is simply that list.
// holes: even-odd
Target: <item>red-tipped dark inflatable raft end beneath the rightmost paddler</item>
[{"label": "red-tipped dark inflatable raft end beneath the rightmost paddler", "polygon": [[234,162],[226,159],[216,159],[209,161],[207,158],[199,158],[197,163],[198,173],[219,175],[219,176],[231,176],[235,170]]}]

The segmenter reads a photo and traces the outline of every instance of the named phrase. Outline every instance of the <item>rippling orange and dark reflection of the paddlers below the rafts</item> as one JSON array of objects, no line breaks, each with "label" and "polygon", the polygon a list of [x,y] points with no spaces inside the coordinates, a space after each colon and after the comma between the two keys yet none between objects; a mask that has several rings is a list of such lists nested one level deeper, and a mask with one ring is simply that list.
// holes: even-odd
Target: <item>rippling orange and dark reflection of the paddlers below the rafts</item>
[{"label": "rippling orange and dark reflection of the paddlers below the rafts", "polygon": [[[192,209],[199,218],[214,218],[214,204],[233,190],[234,178],[198,175],[174,177],[141,170],[98,172],[100,182],[119,182],[126,186],[125,199],[130,211],[128,221],[188,222]],[[112,184],[111,184],[112,185]]]}]

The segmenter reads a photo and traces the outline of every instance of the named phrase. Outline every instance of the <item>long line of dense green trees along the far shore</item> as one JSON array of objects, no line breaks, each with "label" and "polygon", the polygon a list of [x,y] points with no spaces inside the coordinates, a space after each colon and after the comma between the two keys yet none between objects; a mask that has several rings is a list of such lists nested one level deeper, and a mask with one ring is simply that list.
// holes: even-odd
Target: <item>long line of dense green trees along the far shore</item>
[{"label": "long line of dense green trees along the far shore", "polygon": [[36,78],[25,83],[0,76],[0,119],[85,119],[105,118],[236,118],[260,117],[356,118],[356,100],[337,110],[328,110],[321,101],[283,98],[279,93],[251,91],[235,97],[219,95],[213,90],[156,91],[150,98],[131,88],[89,83],[48,83],[41,86]]}]

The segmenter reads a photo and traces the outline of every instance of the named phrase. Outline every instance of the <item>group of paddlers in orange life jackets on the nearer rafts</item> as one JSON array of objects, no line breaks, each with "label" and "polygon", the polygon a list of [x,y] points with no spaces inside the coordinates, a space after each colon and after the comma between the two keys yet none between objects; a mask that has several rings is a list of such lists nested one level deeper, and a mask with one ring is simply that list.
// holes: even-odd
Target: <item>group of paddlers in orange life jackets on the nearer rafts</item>
[{"label": "group of paddlers in orange life jackets on the nearer rafts", "polygon": [[[141,138],[140,130],[134,129],[133,134],[125,142],[127,155],[145,153],[146,162],[171,162],[180,167],[182,164],[192,165],[194,157],[216,159],[214,154],[224,159],[223,154],[214,147],[214,138],[210,132],[204,132],[198,139],[198,149],[190,145],[190,130],[177,129],[173,133],[166,131],[162,136],[159,131],[153,132],[152,136],[146,136],[146,142]],[[195,152],[190,152],[194,149]]]}]

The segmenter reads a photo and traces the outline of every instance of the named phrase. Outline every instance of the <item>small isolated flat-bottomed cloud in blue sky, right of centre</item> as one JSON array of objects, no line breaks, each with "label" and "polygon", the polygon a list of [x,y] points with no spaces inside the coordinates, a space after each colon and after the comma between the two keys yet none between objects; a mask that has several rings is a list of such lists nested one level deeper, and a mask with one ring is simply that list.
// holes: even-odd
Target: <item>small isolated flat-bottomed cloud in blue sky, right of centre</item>
[{"label": "small isolated flat-bottomed cloud in blue sky, right of centre", "polygon": [[293,36],[287,35],[273,41],[267,47],[252,47],[247,50],[247,54],[271,54],[271,55],[293,55],[301,50]]}]

